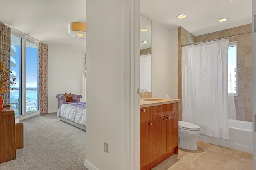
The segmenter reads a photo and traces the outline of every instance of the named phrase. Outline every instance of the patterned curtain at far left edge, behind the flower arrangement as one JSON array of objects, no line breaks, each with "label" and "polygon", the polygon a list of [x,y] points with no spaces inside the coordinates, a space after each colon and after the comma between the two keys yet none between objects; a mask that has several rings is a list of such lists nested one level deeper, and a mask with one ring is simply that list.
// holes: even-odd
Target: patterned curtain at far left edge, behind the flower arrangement
[{"label": "patterned curtain at far left edge, behind the flower arrangement", "polygon": [[[11,50],[11,28],[0,23],[0,61],[3,61],[4,68],[10,69],[10,50]],[[10,79],[10,78],[9,78]],[[4,105],[10,104],[10,87],[8,92],[3,94]]]}]

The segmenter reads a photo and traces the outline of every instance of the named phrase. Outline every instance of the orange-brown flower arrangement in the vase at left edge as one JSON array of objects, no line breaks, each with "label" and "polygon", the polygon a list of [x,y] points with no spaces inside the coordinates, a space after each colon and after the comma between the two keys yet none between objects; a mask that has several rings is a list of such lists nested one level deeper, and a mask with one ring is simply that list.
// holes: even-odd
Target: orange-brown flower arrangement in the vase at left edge
[{"label": "orange-brown flower arrangement in the vase at left edge", "polygon": [[0,72],[0,94],[9,92],[10,89],[15,90],[15,88],[11,86],[16,84],[15,82],[16,78],[12,78],[12,77],[10,78],[11,73],[12,73],[12,70],[10,69],[5,69],[4,71]]}]

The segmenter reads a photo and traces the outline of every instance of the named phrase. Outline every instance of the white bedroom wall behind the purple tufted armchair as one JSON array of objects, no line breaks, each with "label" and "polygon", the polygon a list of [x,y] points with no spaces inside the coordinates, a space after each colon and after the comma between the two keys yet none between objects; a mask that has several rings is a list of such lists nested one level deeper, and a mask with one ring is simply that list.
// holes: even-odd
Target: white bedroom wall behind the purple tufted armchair
[{"label": "white bedroom wall behind the purple tufted armchair", "polygon": [[48,45],[48,112],[58,111],[57,94],[82,95],[84,54]]}]

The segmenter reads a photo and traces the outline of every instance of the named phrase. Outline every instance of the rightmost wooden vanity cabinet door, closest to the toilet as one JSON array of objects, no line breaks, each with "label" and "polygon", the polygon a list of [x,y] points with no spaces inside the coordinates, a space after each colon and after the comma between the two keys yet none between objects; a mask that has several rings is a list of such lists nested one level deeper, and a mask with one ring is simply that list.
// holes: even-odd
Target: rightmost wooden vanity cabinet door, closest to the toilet
[{"label": "rightmost wooden vanity cabinet door, closest to the toilet", "polygon": [[[170,119],[169,119],[170,117]],[[166,122],[166,152],[172,152],[172,149],[178,146],[178,113],[167,116],[168,120]]]}]

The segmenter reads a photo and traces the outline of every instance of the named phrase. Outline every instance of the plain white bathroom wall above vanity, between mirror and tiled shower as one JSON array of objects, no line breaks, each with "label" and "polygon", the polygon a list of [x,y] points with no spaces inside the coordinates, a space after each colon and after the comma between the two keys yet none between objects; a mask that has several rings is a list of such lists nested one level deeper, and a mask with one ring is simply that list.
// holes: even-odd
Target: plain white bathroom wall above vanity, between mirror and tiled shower
[{"label": "plain white bathroom wall above vanity, between mirror and tiled shower", "polygon": [[152,21],[152,97],[178,98],[178,28]]}]

